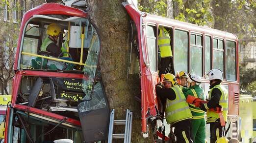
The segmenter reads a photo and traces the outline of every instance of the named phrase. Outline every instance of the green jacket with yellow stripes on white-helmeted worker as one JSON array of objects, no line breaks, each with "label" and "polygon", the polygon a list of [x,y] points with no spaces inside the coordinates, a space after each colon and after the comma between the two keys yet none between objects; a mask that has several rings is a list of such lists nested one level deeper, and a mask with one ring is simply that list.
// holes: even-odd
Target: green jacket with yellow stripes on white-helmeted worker
[{"label": "green jacket with yellow stripes on white-helmeted worker", "polygon": [[[188,88],[184,93],[187,98],[188,95],[194,96],[195,98],[200,98],[205,100],[205,91],[200,85],[194,85]],[[194,104],[189,104],[189,109],[193,115],[193,119],[203,119],[205,118],[205,111],[201,110],[199,107],[196,107]]]}]

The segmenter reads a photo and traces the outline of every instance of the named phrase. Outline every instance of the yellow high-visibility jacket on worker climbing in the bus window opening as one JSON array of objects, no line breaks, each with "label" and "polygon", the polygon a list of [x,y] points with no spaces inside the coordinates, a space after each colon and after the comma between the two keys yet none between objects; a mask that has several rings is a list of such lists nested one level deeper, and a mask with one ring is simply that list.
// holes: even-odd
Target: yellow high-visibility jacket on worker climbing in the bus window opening
[{"label": "yellow high-visibility jacket on worker climbing in the bus window opening", "polygon": [[159,36],[158,36],[158,46],[160,48],[160,55],[161,58],[164,57],[172,57],[172,50],[171,50],[171,45],[170,45],[170,35],[168,31],[164,27],[159,27]]}]

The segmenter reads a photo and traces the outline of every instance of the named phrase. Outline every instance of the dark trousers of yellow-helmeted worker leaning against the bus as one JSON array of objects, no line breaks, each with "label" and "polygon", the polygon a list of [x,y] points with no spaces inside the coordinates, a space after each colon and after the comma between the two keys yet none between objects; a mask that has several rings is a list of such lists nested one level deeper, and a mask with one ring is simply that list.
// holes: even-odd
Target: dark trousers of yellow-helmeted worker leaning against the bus
[{"label": "dark trousers of yellow-helmeted worker leaning against the bus", "polygon": [[187,119],[175,123],[174,134],[177,138],[176,143],[193,143],[192,140],[192,128],[191,128],[192,119]]}]

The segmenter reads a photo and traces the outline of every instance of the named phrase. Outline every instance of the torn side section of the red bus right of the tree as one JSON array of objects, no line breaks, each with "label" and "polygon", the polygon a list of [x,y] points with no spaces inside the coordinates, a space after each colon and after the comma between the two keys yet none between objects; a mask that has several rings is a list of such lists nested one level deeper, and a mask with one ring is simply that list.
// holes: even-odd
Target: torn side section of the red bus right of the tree
[{"label": "torn side section of the red bus right of the tree", "polygon": [[[123,3],[136,28],[138,37],[139,65],[141,75],[141,108],[142,132],[147,137],[148,123],[154,120],[159,110],[156,106],[155,84],[158,82],[158,71],[161,70],[158,55],[159,27],[169,31],[170,45],[173,53],[172,73],[185,71],[202,77],[202,87],[206,98],[209,91],[209,80],[205,78],[212,68],[224,73],[222,84],[229,91],[230,130],[227,137],[239,138],[239,66],[238,39],[234,34],[181,22],[138,11],[134,6]],[[207,125],[208,127],[208,125]],[[206,129],[206,131],[209,131]],[[240,139],[240,138],[239,138]]]}]

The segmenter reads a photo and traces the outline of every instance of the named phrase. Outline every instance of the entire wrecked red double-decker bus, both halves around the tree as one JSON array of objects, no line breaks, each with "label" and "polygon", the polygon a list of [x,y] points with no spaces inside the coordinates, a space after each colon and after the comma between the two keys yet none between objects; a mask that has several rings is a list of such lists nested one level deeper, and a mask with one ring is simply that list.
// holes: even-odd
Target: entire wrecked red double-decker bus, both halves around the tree
[{"label": "entire wrecked red double-decker bus, both halves around the tree", "polygon": [[[159,111],[155,94],[158,82],[158,29],[170,31],[172,73],[198,74],[205,93],[204,74],[212,68],[224,72],[229,91],[227,136],[239,136],[238,40],[231,33],[140,12],[124,2],[131,18],[130,65],[140,74],[141,123],[146,138],[149,124]],[[66,48],[57,57],[42,50],[47,27],[58,24],[63,31],[57,46]],[[15,59],[12,103],[7,110],[5,143],[51,143],[71,139],[74,143],[107,140],[110,109],[99,69],[100,39],[87,12],[57,3],[46,3],[23,17]],[[135,51],[135,52],[134,52]],[[137,52],[136,52],[137,51]],[[137,61],[138,58],[138,62]],[[102,60],[102,59],[101,59]],[[229,124],[227,123],[227,124]],[[157,124],[156,124],[157,126]],[[168,132],[168,130],[167,130]],[[166,133],[167,135],[167,133]]]}]

